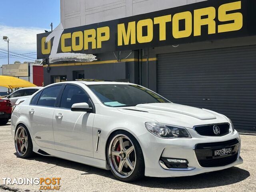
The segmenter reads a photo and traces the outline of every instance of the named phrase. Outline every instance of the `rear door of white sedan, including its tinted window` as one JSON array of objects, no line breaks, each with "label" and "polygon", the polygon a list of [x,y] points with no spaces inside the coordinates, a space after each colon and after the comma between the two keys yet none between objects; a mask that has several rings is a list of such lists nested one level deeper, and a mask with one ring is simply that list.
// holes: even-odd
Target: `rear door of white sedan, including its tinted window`
[{"label": "rear door of white sedan, including its tinted window", "polygon": [[62,85],[51,86],[36,94],[29,106],[32,135],[38,146],[54,149],[52,117]]}]

